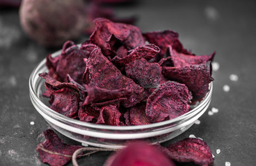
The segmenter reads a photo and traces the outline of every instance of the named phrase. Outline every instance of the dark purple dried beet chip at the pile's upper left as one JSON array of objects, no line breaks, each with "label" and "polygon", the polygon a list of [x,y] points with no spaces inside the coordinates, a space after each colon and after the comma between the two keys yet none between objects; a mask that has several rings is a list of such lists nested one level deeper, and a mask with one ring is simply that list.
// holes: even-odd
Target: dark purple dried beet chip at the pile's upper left
[{"label": "dark purple dried beet chip at the pile's upper left", "polygon": [[54,58],[50,55],[47,57],[49,75],[61,82],[67,82],[67,74],[69,74],[76,82],[82,83],[86,69],[83,58],[88,58],[89,55],[90,51],[81,50],[74,42],[67,41],[63,45],[61,55]]}]

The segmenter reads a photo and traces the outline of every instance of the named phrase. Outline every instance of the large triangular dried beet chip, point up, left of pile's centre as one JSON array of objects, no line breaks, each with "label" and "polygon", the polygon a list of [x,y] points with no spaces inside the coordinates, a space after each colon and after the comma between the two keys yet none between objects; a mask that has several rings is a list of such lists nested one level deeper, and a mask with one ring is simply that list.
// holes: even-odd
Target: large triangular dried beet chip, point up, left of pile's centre
[{"label": "large triangular dried beet chip, point up, left of pile's centre", "polygon": [[91,53],[86,60],[86,72],[83,75],[85,84],[102,89],[127,89],[131,93],[122,104],[132,107],[143,100],[144,89],[122,73],[107,59],[99,48]]}]

